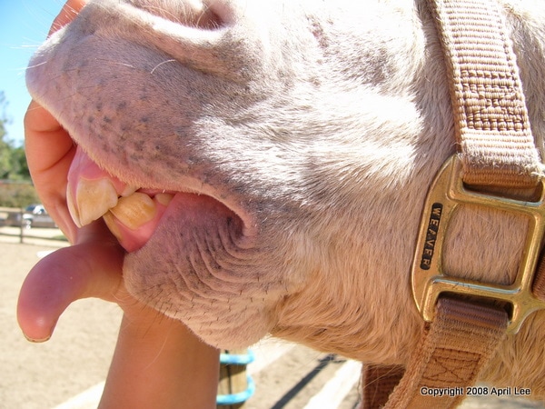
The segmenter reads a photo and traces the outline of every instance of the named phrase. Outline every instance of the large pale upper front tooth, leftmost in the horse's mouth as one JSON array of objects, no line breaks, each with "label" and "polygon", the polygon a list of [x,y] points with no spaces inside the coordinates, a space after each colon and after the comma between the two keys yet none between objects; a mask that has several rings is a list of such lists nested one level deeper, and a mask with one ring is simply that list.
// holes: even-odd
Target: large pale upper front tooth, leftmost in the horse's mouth
[{"label": "large pale upper front tooth, leftmost in the horse's mouth", "polygon": [[75,201],[68,194],[70,214],[74,223],[80,227],[100,218],[116,204],[117,193],[108,179],[81,180],[75,191]]}]

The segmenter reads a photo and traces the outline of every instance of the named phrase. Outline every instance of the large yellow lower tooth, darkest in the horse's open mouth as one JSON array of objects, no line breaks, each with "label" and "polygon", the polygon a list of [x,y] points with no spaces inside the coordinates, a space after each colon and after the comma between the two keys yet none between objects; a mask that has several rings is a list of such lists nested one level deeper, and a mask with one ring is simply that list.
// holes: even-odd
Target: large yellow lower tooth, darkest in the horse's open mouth
[{"label": "large yellow lower tooth, darkest in the horse's open mouth", "polygon": [[110,212],[122,224],[130,229],[137,229],[155,216],[154,200],[143,193],[135,192],[127,197],[120,197],[117,205]]}]

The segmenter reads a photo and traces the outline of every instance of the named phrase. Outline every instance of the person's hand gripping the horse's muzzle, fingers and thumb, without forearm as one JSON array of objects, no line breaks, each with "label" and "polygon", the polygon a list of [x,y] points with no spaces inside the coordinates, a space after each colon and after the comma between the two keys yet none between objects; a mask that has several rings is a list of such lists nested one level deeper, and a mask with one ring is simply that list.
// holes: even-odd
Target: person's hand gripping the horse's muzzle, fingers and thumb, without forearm
[{"label": "person's hand gripping the horse's muzzle, fingers and thumb, without forearm", "polygon": [[[52,25],[69,24],[84,7],[69,0]],[[66,204],[67,175],[76,145],[45,107],[33,101],[25,115],[25,153],[36,190],[71,247],[50,254],[36,264],[23,285],[18,305],[19,323],[33,341],[48,339],[64,309],[75,300],[97,297],[124,309],[134,322],[153,321],[156,311],[138,303],[124,289],[124,250],[102,221],[78,228]],[[54,291],[52,291],[54,289]]]}]

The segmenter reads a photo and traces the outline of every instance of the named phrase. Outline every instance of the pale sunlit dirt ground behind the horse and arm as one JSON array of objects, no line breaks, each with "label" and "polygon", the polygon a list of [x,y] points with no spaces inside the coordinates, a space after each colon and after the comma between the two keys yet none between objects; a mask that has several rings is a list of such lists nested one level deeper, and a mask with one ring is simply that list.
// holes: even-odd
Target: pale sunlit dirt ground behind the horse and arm
[{"label": "pale sunlit dirt ground behind the horse and arm", "polygon": [[[39,260],[39,254],[66,243],[17,242],[14,237],[0,235],[0,409],[52,409],[104,381],[121,311],[116,305],[100,300],[79,301],[61,317],[51,340],[45,344],[29,343],[15,318],[19,288]],[[262,351],[262,354],[268,353]],[[266,369],[254,371],[256,394],[244,409],[304,407],[344,362],[336,357],[331,364],[323,365],[324,356],[301,346],[288,348]],[[304,380],[308,382],[305,384]],[[357,400],[355,384],[338,407],[352,409]],[[93,406],[69,406],[76,407]],[[523,400],[490,397],[468,400],[462,407],[545,408]]]}]

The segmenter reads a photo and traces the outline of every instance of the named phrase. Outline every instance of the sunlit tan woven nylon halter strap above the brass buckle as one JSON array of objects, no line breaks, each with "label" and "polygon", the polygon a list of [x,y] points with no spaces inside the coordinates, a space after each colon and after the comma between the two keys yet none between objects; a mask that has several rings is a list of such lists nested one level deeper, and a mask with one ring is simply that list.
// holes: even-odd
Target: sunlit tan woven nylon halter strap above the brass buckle
[{"label": "sunlit tan woven nylon halter strap above the brass buckle", "polygon": [[534,145],[516,57],[496,0],[431,0],[450,65],[454,125],[468,185],[531,188]]}]

